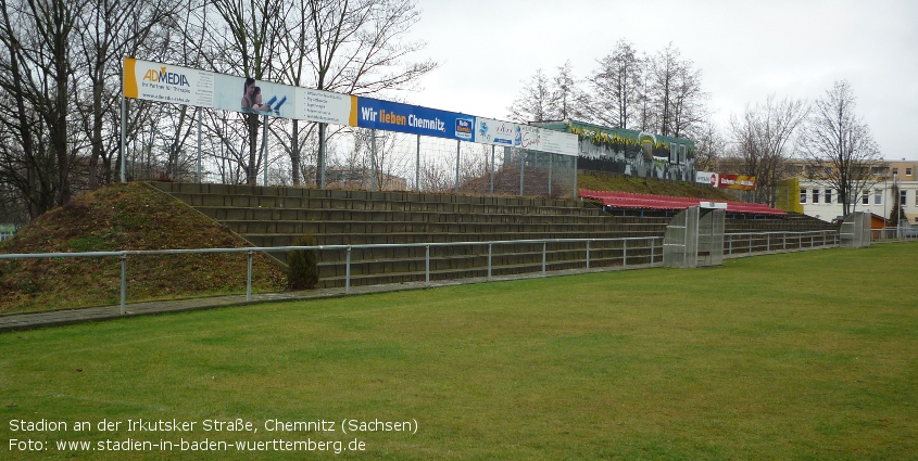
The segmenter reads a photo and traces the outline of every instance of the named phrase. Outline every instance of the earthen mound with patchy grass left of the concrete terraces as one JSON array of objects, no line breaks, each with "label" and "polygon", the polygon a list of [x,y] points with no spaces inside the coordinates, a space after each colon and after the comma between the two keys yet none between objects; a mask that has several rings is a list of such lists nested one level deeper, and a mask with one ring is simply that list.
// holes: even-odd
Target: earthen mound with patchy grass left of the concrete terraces
[{"label": "earthen mound with patchy grass left of the concrete terraces", "polygon": [[[20,229],[0,253],[230,248],[246,241],[191,207],[142,183],[74,199]],[[128,302],[244,292],[244,254],[134,256]],[[253,261],[253,290],[279,291],[282,271]],[[0,260],[0,313],[117,304],[117,257]]]}]

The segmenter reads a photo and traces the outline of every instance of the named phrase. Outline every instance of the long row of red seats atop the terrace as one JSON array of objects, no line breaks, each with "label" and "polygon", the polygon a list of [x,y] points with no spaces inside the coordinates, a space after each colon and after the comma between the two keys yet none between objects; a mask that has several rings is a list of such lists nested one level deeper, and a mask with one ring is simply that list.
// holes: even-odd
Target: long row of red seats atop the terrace
[{"label": "long row of red seats atop the terrace", "polygon": [[783,210],[771,208],[760,203],[745,203],[733,201],[708,201],[692,197],[670,197],[666,195],[636,194],[630,192],[591,191],[580,189],[582,199],[592,199],[603,202],[605,206],[615,208],[645,208],[645,209],[686,209],[690,206],[700,205],[702,202],[726,203],[727,212],[747,213],[757,215],[787,215]]}]

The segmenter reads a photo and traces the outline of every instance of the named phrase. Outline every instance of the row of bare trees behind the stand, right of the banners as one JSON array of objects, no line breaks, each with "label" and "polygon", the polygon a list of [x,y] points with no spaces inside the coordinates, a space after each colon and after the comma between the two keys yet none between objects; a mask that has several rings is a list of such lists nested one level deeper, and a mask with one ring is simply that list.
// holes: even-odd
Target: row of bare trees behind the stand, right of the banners
[{"label": "row of bare trees behind the stand, right of the banners", "polygon": [[879,180],[872,169],[882,154],[845,80],[812,102],[770,94],[730,114],[722,127],[712,119],[708,97],[702,71],[672,43],[646,53],[621,39],[583,78],[569,61],[551,76],[536,71],[507,116],[520,123],[569,118],[692,139],[696,170],[755,176],[751,200],[771,206],[790,158],[803,159],[809,179],[838,191],[844,214]]}]

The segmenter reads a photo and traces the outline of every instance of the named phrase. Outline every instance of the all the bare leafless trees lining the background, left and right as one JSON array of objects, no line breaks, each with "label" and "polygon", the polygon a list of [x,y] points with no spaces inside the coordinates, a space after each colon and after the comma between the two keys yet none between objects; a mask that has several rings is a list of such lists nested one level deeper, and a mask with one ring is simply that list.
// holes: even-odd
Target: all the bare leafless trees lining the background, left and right
[{"label": "all the bare leafless trees lining the background, left and right", "polygon": [[[128,179],[193,178],[197,139],[216,176],[209,179],[226,183],[254,184],[266,171],[284,183],[317,183],[330,158],[318,139],[341,135],[345,152],[336,162],[369,170],[369,143],[379,142],[375,161],[394,165],[401,161],[387,154],[388,135],[370,141],[349,127],[326,132],[322,124],[142,100],[127,100],[122,120],[123,57],[398,100],[438,66],[415,59],[424,43],[407,33],[418,21],[413,0],[2,1],[0,221],[25,222],[75,191],[116,181],[123,164]],[[671,43],[644,53],[623,39],[586,78],[569,62],[556,71],[525,82],[508,118],[575,118],[693,139],[696,169],[741,161],[737,172],[764,185],[759,202],[774,204],[771,184],[792,154],[838,158],[832,170],[846,176],[837,189],[848,192],[857,188],[854,166],[879,155],[844,81],[814,103],[769,97],[719,127],[701,69]],[[426,182],[451,177],[438,168],[425,166]]]}]

